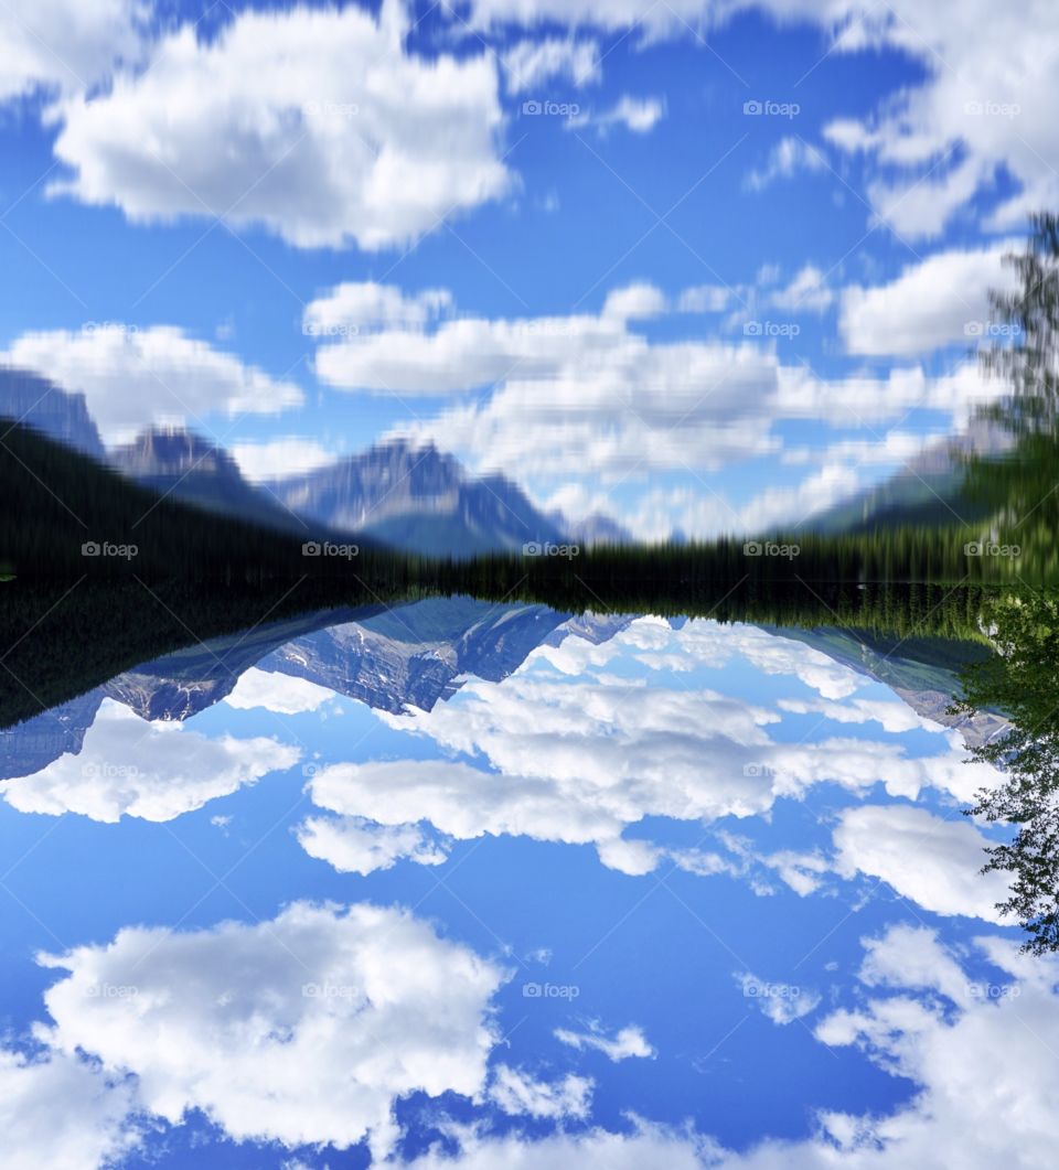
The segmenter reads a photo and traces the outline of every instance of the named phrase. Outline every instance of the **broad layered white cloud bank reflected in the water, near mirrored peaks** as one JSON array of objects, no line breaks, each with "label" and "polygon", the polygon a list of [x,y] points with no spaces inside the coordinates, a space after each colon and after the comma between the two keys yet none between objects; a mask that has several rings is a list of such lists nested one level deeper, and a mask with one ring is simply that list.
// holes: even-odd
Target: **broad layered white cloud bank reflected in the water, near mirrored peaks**
[{"label": "broad layered white cloud bank reflected in the water, near mirrored peaks", "polygon": [[[621,676],[610,670],[604,681],[616,660]],[[854,794],[881,784],[894,797],[914,799],[934,787],[963,798],[995,778],[985,765],[964,763],[948,735],[938,735],[936,753],[919,758],[894,741],[783,742],[769,735],[778,710],[652,677],[681,665],[729,662],[791,675],[832,698],[865,682],[817,651],[747,627],[690,621],[673,631],[644,619],[603,646],[568,639],[531,655],[502,684],[472,681],[429,713],[379,714],[446,753],[483,763],[324,766],[309,791],[335,818],[303,826],[303,844],[357,872],[400,856],[435,863],[442,846],[424,835],[428,823],[453,840],[509,834],[592,845],[603,865],[630,875],[649,873],[666,858],[689,872],[718,873],[729,869],[724,859],[682,858],[625,831],[648,817],[709,823],[758,815],[821,783]],[[799,869],[806,879],[819,875],[819,867],[795,859],[773,867],[792,885]]]}]

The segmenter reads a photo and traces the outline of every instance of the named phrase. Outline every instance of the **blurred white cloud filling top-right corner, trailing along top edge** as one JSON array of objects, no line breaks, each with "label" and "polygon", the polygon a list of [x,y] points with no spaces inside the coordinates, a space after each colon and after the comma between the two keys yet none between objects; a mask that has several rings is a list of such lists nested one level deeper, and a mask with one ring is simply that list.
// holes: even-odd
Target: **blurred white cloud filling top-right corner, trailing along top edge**
[{"label": "blurred white cloud filling top-right corner, trailing along top edge", "polygon": [[[555,22],[568,28],[639,29],[647,39],[692,36],[737,13],[761,11],[778,22],[811,21],[830,35],[831,53],[889,49],[923,67],[920,83],[887,95],[862,119],[841,118],[825,137],[875,164],[868,181],[874,216],[909,236],[936,236],[979,194],[998,206],[988,229],[1024,221],[1059,201],[1051,165],[1059,128],[1051,111],[1059,76],[1059,30],[1051,0],[997,12],[990,0],[474,0],[477,28]],[[988,29],[988,35],[983,35]],[[1004,51],[998,53],[997,46]],[[748,184],[764,186],[799,166],[814,166],[807,144],[784,139]],[[955,159],[955,161],[954,161]],[[998,174],[1016,180],[1003,193]]]}]

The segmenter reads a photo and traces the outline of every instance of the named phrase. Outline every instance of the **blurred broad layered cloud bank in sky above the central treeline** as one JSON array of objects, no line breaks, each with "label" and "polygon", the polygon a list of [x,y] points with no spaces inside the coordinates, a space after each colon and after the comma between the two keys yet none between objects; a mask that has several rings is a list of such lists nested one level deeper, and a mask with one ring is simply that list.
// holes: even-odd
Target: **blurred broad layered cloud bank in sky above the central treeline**
[{"label": "blurred broad layered cloud bank in sky above the central treeline", "polygon": [[[591,479],[594,507],[605,511],[616,502],[600,496],[600,487],[626,484],[634,498],[623,500],[623,522],[638,537],[658,539],[674,528],[710,536],[803,519],[857,491],[864,486],[858,468],[894,450],[888,439],[876,439],[879,459],[853,446],[824,448],[804,482],[773,486],[738,505],[687,482],[634,487],[651,473],[701,477],[775,456],[783,450],[777,427],[785,419],[878,434],[922,410],[948,413],[960,426],[1003,392],[974,362],[940,377],[914,366],[824,379],[805,365],[785,365],[768,339],[655,340],[642,324],[671,312],[723,311],[733,300],[747,311],[821,312],[832,298],[820,270],[806,264],[788,284],[763,291],[704,285],[671,297],[637,281],[611,290],[598,314],[557,317],[460,316],[438,289],[345,284],[312,302],[305,321],[321,335],[316,371],[329,385],[456,399],[433,418],[398,425],[393,435],[432,441],[480,473],[518,467],[541,500],[559,484],[573,490],[571,468],[584,476],[583,495]],[[362,308],[377,303],[386,310]],[[365,326],[365,317],[374,324]],[[472,393],[481,390],[489,393]]]}]

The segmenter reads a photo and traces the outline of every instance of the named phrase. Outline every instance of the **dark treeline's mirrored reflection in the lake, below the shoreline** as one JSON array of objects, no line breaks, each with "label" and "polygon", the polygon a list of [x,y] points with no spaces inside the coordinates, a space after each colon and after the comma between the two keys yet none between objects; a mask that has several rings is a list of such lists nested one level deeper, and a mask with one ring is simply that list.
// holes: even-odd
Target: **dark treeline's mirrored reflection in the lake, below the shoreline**
[{"label": "dark treeline's mirrored reflection in the lake, below the shoreline", "polygon": [[[701,591],[676,603],[652,601],[611,590],[593,597],[584,586],[538,590],[529,579],[517,587],[476,596],[497,605],[548,604],[569,613],[627,612],[689,615],[769,626],[860,629],[898,640],[949,638],[982,641],[979,589],[938,586],[864,589],[804,585]],[[440,591],[442,594],[449,591]],[[322,613],[349,621],[353,606],[394,607],[421,599],[422,590],[371,593],[344,583],[312,578],[274,583],[267,589],[205,591],[185,581],[145,587],[136,580],[43,583],[0,586],[0,727],[75,698],[123,670],[209,639],[261,632],[268,624]],[[642,603],[642,604],[640,604]]]}]

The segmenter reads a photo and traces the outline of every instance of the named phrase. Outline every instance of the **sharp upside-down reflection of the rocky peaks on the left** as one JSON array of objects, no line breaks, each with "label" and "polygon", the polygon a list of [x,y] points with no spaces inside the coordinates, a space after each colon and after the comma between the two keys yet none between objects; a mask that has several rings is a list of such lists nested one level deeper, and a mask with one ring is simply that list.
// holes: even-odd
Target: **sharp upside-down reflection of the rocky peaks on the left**
[{"label": "sharp upside-down reflection of the rocky peaks on the left", "polygon": [[431,598],[262,624],[145,662],[0,731],[0,778],[32,775],[67,752],[80,752],[104,698],[149,722],[183,722],[227,697],[241,675],[257,667],[392,714],[431,710],[470,676],[500,682],[541,645],[558,646],[571,634],[599,645],[634,617]]}]

